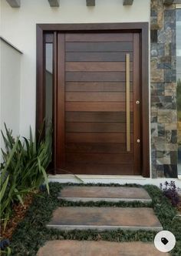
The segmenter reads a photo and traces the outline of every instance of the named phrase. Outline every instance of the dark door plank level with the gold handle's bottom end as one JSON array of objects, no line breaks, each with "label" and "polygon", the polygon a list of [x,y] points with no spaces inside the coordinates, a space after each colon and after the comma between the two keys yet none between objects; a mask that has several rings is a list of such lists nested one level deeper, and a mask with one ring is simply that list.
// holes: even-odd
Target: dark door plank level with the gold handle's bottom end
[{"label": "dark door plank level with the gold handle's bottom end", "polygon": [[[127,153],[126,143],[66,143],[67,153]],[[133,153],[133,144],[130,152]]]}]

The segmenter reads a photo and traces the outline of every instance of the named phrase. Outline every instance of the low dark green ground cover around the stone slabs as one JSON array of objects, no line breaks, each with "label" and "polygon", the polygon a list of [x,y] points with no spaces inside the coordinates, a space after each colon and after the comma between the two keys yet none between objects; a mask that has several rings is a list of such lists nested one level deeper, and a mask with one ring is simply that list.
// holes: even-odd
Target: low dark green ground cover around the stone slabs
[{"label": "low dark green ground cover around the stone slabs", "polygon": [[[152,197],[152,203],[143,204],[140,202],[87,202],[87,203],[67,203],[64,200],[58,200],[58,193],[63,186],[67,184],[49,184],[50,194],[41,191],[39,197],[35,196],[31,207],[29,207],[25,219],[18,224],[15,233],[12,236],[10,248],[12,255],[25,256],[36,255],[46,241],[50,240],[87,240],[87,241],[150,241],[153,242],[156,235],[155,231],[59,231],[48,229],[46,224],[50,221],[54,209],[61,206],[83,205],[83,206],[117,206],[117,207],[153,207],[155,214],[163,225],[163,230],[173,232],[176,237],[176,247],[171,252],[174,256],[181,255],[181,221],[177,217],[176,208],[170,201],[164,197],[163,192],[155,186],[143,186]],[[72,184],[68,184],[72,185]],[[77,184],[76,184],[77,185]],[[91,184],[88,184],[89,186]],[[94,184],[95,185],[95,184]],[[105,186],[105,184],[96,184]],[[84,186],[84,184],[81,184]],[[120,186],[118,184],[109,184],[108,186]],[[141,187],[136,184],[125,185],[127,187]]]}]

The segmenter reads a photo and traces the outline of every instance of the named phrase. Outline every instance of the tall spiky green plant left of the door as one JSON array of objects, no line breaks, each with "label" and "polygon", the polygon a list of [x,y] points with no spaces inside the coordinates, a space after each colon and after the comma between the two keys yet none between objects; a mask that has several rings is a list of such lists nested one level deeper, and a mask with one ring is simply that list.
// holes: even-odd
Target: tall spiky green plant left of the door
[{"label": "tall spiky green plant left of the door", "polygon": [[7,221],[12,214],[12,204],[20,202],[31,190],[35,190],[43,182],[46,184],[48,193],[48,177],[46,168],[51,162],[52,128],[48,128],[45,136],[42,136],[44,127],[39,133],[38,140],[33,139],[30,128],[29,139],[25,137],[15,139],[12,130],[5,125],[5,134],[2,137],[5,150],[2,150],[2,170],[0,176],[0,203],[1,221],[6,227]]}]

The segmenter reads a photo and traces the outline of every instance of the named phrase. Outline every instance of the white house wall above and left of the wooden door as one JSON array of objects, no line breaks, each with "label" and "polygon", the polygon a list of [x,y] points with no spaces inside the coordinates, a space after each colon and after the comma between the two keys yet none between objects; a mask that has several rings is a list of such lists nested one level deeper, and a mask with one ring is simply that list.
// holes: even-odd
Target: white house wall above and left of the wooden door
[{"label": "white house wall above and left of the wooden door", "polygon": [[35,129],[36,23],[150,22],[150,0],[135,0],[123,6],[123,0],[96,0],[87,7],[86,0],[61,0],[51,8],[48,0],[21,0],[21,8],[11,8],[1,0],[2,36],[21,49],[20,133],[28,136],[29,125]]}]

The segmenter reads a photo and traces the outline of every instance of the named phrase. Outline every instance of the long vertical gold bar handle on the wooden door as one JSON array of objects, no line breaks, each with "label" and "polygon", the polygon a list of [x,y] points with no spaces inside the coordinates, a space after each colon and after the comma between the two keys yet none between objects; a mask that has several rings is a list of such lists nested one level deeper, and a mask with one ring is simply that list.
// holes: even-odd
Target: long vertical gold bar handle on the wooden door
[{"label": "long vertical gold bar handle on the wooden door", "polygon": [[126,55],[126,97],[127,97],[127,151],[130,151],[130,54]]}]

